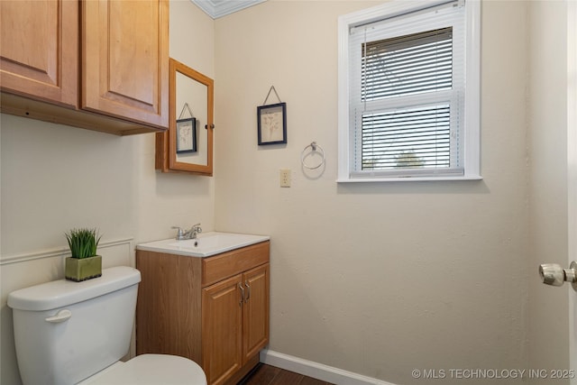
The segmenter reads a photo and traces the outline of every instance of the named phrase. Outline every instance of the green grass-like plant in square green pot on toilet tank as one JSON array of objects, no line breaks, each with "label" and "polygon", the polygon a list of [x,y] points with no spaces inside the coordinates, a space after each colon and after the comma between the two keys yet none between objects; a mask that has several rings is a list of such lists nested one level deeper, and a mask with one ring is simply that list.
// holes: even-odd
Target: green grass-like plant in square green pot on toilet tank
[{"label": "green grass-like plant in square green pot on toilet tank", "polygon": [[64,277],[80,282],[102,276],[102,256],[96,255],[100,242],[96,229],[72,229],[65,235],[72,256],[65,261]]}]

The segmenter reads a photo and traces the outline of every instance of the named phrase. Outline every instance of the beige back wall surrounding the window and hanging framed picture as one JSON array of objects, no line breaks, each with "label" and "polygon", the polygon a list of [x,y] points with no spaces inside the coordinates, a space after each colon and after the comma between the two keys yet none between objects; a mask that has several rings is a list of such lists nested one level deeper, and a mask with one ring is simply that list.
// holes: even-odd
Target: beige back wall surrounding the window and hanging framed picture
[{"label": "beige back wall surrounding the window and hanging framed picture", "polygon": [[[482,4],[482,181],[339,185],[337,17],[378,3],[270,0],[216,21],[215,224],[271,236],[273,351],[396,384],[526,368],[527,3]],[[288,144],[259,147],[271,85]],[[321,172],[301,168],[312,141]]]}]

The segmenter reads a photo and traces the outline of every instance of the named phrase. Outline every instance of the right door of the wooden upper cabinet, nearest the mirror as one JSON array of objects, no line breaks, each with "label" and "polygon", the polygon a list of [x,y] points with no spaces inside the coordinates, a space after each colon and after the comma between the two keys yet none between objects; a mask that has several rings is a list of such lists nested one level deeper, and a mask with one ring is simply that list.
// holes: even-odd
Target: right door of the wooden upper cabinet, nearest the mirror
[{"label": "right door of the wooden upper cabinet, nearest the mirror", "polygon": [[168,128],[168,0],[82,2],[81,39],[81,107]]}]

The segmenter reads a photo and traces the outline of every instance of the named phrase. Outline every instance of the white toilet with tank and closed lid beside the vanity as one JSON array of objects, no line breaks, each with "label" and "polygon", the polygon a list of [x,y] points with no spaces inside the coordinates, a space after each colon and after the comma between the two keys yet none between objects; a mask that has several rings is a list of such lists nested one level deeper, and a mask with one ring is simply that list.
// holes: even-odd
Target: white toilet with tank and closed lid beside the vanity
[{"label": "white toilet with tank and closed lid beside the vanity", "polygon": [[196,362],[142,354],[127,362],[139,270],[117,266],[83,282],[55,280],[13,291],[14,342],[24,385],[206,385]]}]

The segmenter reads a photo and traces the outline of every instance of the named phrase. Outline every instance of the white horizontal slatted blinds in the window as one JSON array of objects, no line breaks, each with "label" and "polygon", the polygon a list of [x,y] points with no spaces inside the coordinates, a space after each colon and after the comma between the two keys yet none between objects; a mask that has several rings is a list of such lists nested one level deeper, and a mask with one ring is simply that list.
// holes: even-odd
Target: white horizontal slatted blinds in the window
[{"label": "white horizontal slatted blinds in the window", "polygon": [[459,3],[351,30],[353,170],[463,173]]}]

